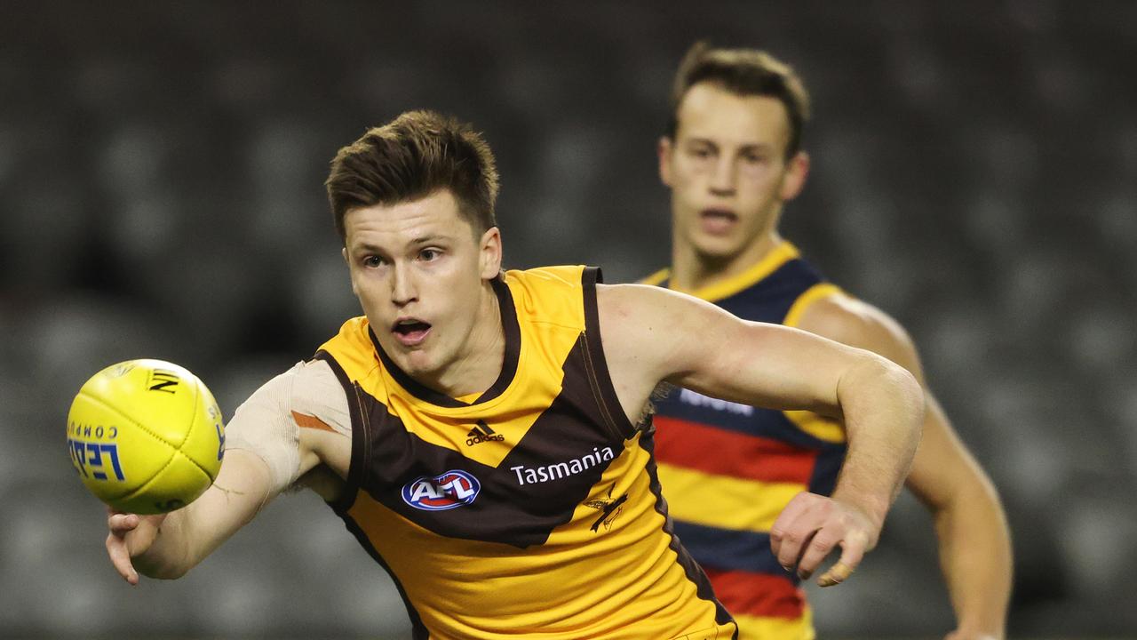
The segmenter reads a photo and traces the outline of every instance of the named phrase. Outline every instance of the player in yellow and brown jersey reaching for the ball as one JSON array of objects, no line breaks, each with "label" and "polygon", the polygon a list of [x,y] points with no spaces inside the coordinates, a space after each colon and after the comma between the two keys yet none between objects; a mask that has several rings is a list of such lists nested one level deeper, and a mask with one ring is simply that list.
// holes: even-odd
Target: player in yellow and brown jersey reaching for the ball
[{"label": "player in yellow and brown jersey reaching for the ball", "polygon": [[872,547],[919,441],[901,367],[596,269],[503,273],[493,158],[451,118],[368,131],[326,184],[364,317],[241,405],[200,499],[111,514],[127,581],[182,575],[299,482],[391,573],[415,638],[730,638],[659,497],[642,418],[662,380],[844,415],[841,499],[786,528],[805,571],[843,545],[835,582]]}]

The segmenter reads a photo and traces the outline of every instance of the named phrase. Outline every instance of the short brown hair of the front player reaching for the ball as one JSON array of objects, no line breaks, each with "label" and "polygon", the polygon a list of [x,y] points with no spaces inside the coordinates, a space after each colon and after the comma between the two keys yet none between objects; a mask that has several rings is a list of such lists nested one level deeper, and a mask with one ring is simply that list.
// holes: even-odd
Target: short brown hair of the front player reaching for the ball
[{"label": "short brown hair of the front player reaching for the ball", "polygon": [[348,211],[415,200],[440,189],[454,194],[474,232],[497,225],[498,173],[490,146],[470,124],[435,112],[407,112],[368,130],[335,154],[324,186],[343,239]]}]

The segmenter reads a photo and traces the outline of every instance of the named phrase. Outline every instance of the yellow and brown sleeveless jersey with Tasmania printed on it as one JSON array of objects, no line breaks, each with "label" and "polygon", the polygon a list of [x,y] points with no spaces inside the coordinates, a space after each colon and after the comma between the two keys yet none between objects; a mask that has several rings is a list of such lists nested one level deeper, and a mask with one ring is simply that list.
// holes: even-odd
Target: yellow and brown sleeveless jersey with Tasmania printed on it
[{"label": "yellow and brown sleeveless jersey with Tasmania printed on it", "polygon": [[731,638],[730,616],[673,535],[653,429],[631,425],[581,266],[495,281],[506,336],[476,399],[426,388],[364,318],[317,358],[351,408],[332,504],[395,579],[420,638]]}]

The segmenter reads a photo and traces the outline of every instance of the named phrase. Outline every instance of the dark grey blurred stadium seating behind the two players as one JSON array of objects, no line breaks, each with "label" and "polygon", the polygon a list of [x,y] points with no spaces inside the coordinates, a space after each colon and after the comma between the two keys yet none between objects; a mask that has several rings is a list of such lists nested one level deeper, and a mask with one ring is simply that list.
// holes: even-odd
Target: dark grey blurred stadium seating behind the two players
[{"label": "dark grey blurred stadium seating behind the two players", "polygon": [[[897,317],[1015,541],[1013,637],[1137,637],[1137,3],[0,2],[0,635],[406,638],[312,494],[176,582],[128,588],[64,446],[113,362],[182,363],[226,413],[358,313],[324,202],[401,110],[482,129],[512,268],[669,257],[654,147],[696,39],[813,92],[783,230]],[[822,638],[952,614],[905,495]]]}]

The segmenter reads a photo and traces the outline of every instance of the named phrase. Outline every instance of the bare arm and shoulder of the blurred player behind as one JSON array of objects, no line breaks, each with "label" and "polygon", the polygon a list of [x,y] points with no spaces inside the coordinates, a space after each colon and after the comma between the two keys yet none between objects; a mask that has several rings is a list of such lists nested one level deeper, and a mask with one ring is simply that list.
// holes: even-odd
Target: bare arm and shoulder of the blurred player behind
[{"label": "bare arm and shoulder of the blurred player behind", "polygon": [[[904,329],[880,310],[846,296],[819,301],[803,329],[879,353],[924,385],[920,358]],[[907,486],[931,511],[940,566],[955,609],[953,638],[1003,638],[1011,592],[1011,538],[998,494],[927,392],[923,438]]]}]

